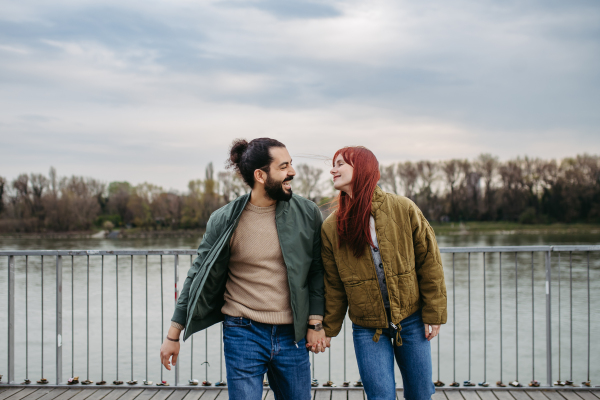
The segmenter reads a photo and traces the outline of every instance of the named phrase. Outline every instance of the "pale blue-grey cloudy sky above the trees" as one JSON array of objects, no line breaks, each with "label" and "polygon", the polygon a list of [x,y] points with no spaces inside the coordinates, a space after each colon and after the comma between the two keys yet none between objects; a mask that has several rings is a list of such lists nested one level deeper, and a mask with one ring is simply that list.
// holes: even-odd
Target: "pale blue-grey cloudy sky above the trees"
[{"label": "pale blue-grey cloudy sky above the trees", "polygon": [[0,0],[0,176],[600,153],[600,2]]}]

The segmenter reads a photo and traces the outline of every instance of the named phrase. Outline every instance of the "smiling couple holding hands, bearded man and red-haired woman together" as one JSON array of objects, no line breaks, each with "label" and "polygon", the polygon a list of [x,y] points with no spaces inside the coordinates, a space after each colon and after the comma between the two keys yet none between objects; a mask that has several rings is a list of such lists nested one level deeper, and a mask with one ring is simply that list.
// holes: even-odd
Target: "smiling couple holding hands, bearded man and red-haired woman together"
[{"label": "smiling couple holding hands, bearded man and red-haired woman together", "polygon": [[277,400],[311,398],[308,353],[325,351],[348,310],[367,398],[395,399],[394,359],[408,400],[435,392],[429,340],[446,322],[433,229],[409,199],[386,193],[375,155],[333,157],[339,190],[323,221],[292,193],[281,142],[233,142],[229,166],[252,189],[215,211],[160,349],[170,369],[179,337],[223,321],[230,399],[258,400],[266,373]]}]

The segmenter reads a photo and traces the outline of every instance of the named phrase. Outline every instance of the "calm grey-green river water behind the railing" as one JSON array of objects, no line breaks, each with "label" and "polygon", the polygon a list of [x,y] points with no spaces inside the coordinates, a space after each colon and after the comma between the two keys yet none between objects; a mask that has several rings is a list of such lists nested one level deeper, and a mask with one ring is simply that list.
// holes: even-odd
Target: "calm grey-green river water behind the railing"
[{"label": "calm grey-green river water behind the railing", "polygon": [[[2,250],[116,250],[116,249],[195,249],[200,238],[160,239],[11,239],[0,238]],[[566,245],[598,244],[600,234],[512,234],[512,235],[460,235],[439,236],[441,247],[455,246],[523,246],[523,245]],[[573,253],[572,269],[569,254],[558,254],[552,258],[552,369],[553,379],[559,374],[562,380],[573,378],[576,383],[588,378],[588,354],[591,355],[589,374],[592,382],[600,380],[600,254],[590,254],[590,332],[591,347],[588,347],[588,268],[585,253]],[[7,258],[0,257],[0,287],[6,294]],[[532,277],[533,260],[533,277]],[[41,260],[29,257],[27,266],[28,302],[25,302],[26,274],[25,258],[16,259],[16,376],[22,381],[42,377],[41,371]],[[146,376],[152,381],[161,379],[159,347],[168,329],[174,306],[173,257],[164,256],[162,264],[163,312],[161,314],[161,264],[159,256],[148,257],[148,283],[146,285],[146,258],[129,256],[118,259],[105,257],[103,281],[101,259],[90,257],[89,268],[89,378],[99,381],[101,377],[111,382],[117,378],[127,381],[133,378],[143,381]],[[454,263],[454,290],[452,255],[443,255],[448,294],[448,323],[441,329],[438,339],[432,341],[433,379],[439,378],[446,384],[456,379],[462,382],[471,379],[495,383],[502,376],[504,382],[518,378],[522,383],[532,377],[546,381],[546,298],[545,270],[542,254],[519,253],[517,256],[515,291],[515,255],[502,255],[502,326],[500,325],[500,266],[499,255],[486,257],[485,285],[483,255],[472,254],[470,268],[468,256],[457,254]],[[180,258],[180,286],[190,265],[190,257]],[[133,268],[132,268],[133,266]],[[73,274],[71,270],[73,269]],[[469,308],[470,270],[470,308]],[[559,292],[558,275],[561,275]],[[66,380],[72,371],[81,379],[87,377],[87,304],[88,279],[86,257],[63,259],[63,377]],[[131,275],[133,274],[133,295]],[[572,274],[572,281],[569,276]],[[44,258],[43,273],[44,312],[44,377],[54,381],[55,355],[55,260]],[[533,279],[533,291],[532,291]],[[73,285],[71,285],[73,281]],[[572,290],[570,283],[572,282]],[[103,290],[101,290],[103,283]],[[485,288],[485,298],[484,298]],[[148,313],[146,314],[146,289]],[[117,293],[118,293],[118,346],[117,346]],[[559,325],[560,293],[560,325]],[[572,293],[572,297],[571,297]],[[104,321],[101,329],[101,299],[103,296]],[[533,298],[533,307],[532,307]],[[4,297],[0,303],[6,304]],[[485,301],[484,301],[485,299]],[[132,320],[133,302],[133,320]],[[572,307],[572,314],[570,309]],[[72,312],[71,310],[74,310]],[[485,308],[485,314],[484,314]],[[518,312],[517,312],[518,308]],[[456,310],[456,312],[454,312]],[[469,312],[470,310],[470,312]],[[533,312],[533,318],[532,318]],[[162,315],[162,322],[161,322]],[[147,331],[146,335],[146,317]],[[470,318],[469,318],[470,317]],[[470,329],[469,329],[470,319]],[[572,339],[570,324],[572,320]],[[7,307],[0,308],[0,374],[6,377]],[[73,322],[72,322],[73,321]],[[133,321],[133,322],[132,322]],[[348,321],[348,320],[347,320]],[[26,330],[26,322],[28,330]],[[349,321],[348,321],[349,322]],[[133,329],[132,329],[133,325]],[[354,359],[351,324],[332,340],[330,352],[314,357],[315,376],[320,383],[329,379],[338,385],[359,378]],[[456,335],[454,335],[454,327]],[[133,330],[133,346],[131,344]],[[344,346],[344,332],[346,345]],[[104,337],[102,349],[102,332]],[[470,332],[470,335],[469,335]],[[484,334],[486,332],[487,334]],[[517,347],[518,333],[518,347]],[[560,338],[559,338],[560,335]],[[26,347],[26,338],[29,345]],[[74,338],[74,340],[73,340]],[[146,352],[146,338],[148,351]],[[560,345],[559,345],[560,339]],[[470,343],[470,346],[469,346]],[[500,345],[502,343],[502,346]],[[572,343],[572,346],[571,346]],[[534,345],[535,344],[535,345]],[[220,362],[220,325],[197,333],[193,340],[182,343],[180,383],[190,377],[211,382],[225,377],[224,363]],[[74,346],[74,351],[72,351]],[[118,347],[118,350],[117,350]],[[345,347],[345,352],[344,352]],[[572,352],[571,352],[572,347]],[[133,364],[131,350],[133,348]],[[439,348],[439,353],[438,353]],[[470,350],[469,350],[470,349]],[[118,355],[117,355],[118,351]],[[518,366],[517,366],[518,352]],[[192,360],[193,354],[193,360]],[[439,355],[439,356],[438,356]],[[560,357],[559,357],[560,355]],[[103,357],[102,357],[103,356]],[[146,358],[147,375],[146,375]],[[344,358],[346,367],[344,368]],[[72,363],[73,359],[73,363]],[[572,359],[572,375],[571,375]],[[118,361],[117,361],[118,360]],[[331,361],[330,361],[331,360]],[[470,360],[470,362],[469,362]],[[532,360],[535,362],[532,363]],[[208,363],[204,363],[208,361]],[[312,358],[311,358],[312,361]],[[331,362],[331,368],[330,368]],[[501,366],[502,362],[502,368]],[[103,366],[103,371],[102,371]],[[27,370],[26,370],[26,367]],[[517,372],[518,367],[518,372]],[[331,372],[330,372],[331,371]],[[397,383],[401,376],[396,371]],[[174,383],[173,372],[162,370],[162,378]]]}]

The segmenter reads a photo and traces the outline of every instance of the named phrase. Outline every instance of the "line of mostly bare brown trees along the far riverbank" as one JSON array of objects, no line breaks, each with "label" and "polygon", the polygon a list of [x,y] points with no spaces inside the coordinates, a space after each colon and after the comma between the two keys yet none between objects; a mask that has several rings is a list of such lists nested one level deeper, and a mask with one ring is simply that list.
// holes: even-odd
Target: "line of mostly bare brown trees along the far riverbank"
[{"label": "line of mostly bare brown trees along the far riverbank", "polygon": [[[562,160],[490,154],[474,160],[399,162],[382,165],[379,185],[406,196],[430,221],[600,222],[600,156]],[[247,193],[230,171],[192,180],[185,193],[151,183],[108,184],[81,176],[21,174],[0,177],[0,232],[60,232],[120,227],[201,229],[210,214]],[[327,212],[335,190],[328,173],[296,167],[294,192]]]}]

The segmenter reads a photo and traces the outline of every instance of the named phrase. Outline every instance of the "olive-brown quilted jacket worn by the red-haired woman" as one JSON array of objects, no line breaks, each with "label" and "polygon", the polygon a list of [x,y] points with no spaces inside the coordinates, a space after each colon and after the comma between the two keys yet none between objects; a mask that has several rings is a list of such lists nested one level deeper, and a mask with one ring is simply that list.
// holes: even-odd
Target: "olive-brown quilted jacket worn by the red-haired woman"
[{"label": "olive-brown quilted jacket worn by the red-haired woman", "polygon": [[[376,187],[371,215],[375,219],[392,322],[422,308],[423,322],[446,323],[446,285],[440,250],[423,213],[406,197]],[[356,258],[347,244],[338,246],[336,213],[321,228],[321,255],[325,267],[327,336],[337,336],[349,308],[350,319],[366,328],[389,326],[375,265],[368,245]]]}]

